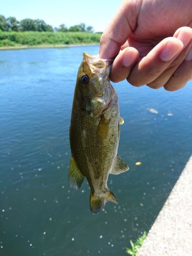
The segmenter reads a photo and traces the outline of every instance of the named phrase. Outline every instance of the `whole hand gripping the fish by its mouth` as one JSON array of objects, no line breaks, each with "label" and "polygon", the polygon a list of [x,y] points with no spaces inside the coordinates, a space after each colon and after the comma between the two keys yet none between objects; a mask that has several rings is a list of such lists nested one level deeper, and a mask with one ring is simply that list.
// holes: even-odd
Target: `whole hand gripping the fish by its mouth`
[{"label": "whole hand gripping the fish by its mouth", "polygon": [[175,91],[192,79],[192,1],[125,0],[100,40],[110,78]]}]

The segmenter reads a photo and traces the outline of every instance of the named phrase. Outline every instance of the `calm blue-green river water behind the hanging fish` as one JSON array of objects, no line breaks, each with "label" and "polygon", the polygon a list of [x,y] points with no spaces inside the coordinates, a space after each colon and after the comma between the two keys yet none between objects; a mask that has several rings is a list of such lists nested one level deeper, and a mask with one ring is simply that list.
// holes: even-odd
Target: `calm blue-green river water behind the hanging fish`
[{"label": "calm blue-green river water behind the hanging fish", "polygon": [[0,52],[1,255],[126,255],[129,240],[150,229],[192,152],[192,82],[174,93],[116,84],[125,121],[119,155],[130,170],[109,178],[119,204],[92,215],[88,184],[76,191],[68,183],[83,51],[96,54],[98,47]]}]

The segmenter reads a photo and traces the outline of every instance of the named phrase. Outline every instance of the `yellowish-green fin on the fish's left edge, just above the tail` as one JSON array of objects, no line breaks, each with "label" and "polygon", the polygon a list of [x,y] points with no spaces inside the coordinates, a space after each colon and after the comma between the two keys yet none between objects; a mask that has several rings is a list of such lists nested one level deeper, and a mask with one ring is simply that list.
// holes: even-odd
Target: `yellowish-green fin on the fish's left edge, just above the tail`
[{"label": "yellowish-green fin on the fish's left edge, just above the tail", "polygon": [[84,179],[84,175],[80,172],[75,162],[75,159],[73,157],[71,158],[68,178],[69,178],[71,187],[75,189],[78,189],[81,186]]}]

